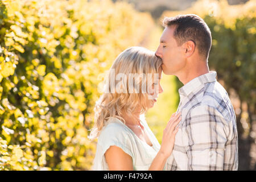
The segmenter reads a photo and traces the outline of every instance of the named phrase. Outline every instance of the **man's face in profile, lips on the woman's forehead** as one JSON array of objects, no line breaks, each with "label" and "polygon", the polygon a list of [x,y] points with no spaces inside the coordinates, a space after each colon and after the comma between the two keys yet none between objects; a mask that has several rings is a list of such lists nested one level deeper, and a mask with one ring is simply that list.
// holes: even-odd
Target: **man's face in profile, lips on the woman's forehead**
[{"label": "man's face in profile, lips on the woman's forehead", "polygon": [[176,75],[182,68],[185,67],[184,48],[177,46],[174,38],[174,26],[164,28],[160,38],[160,45],[155,52],[155,55],[163,61],[162,69],[166,75]]}]

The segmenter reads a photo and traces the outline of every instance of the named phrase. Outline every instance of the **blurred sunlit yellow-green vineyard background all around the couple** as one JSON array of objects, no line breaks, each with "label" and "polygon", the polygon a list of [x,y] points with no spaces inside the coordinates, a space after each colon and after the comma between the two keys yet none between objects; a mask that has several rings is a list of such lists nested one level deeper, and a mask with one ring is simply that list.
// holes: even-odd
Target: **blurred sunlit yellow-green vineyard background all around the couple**
[{"label": "blurred sunlit yellow-green vineyard background all around the couple", "polygon": [[[193,13],[212,31],[210,70],[237,117],[239,170],[256,169],[256,1],[0,0],[0,170],[89,170],[98,84],[131,46],[155,51],[164,16]],[[163,75],[146,114],[161,143],[183,86]]]}]

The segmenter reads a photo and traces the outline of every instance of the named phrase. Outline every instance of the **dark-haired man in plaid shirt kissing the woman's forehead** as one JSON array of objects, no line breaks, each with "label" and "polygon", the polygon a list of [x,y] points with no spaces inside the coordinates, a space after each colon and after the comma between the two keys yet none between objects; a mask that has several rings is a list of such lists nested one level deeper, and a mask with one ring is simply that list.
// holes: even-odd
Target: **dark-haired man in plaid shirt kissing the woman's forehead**
[{"label": "dark-haired man in plaid shirt kissing the woman's forehead", "polygon": [[164,18],[155,55],[163,72],[184,84],[179,89],[182,120],[168,170],[237,170],[236,115],[226,90],[209,71],[209,27],[197,15]]}]

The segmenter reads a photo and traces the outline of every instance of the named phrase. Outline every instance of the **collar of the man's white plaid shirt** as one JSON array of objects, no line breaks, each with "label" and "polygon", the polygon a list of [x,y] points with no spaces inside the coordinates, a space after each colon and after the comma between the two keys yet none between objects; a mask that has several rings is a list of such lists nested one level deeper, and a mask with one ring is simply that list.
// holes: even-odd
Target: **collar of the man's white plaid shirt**
[{"label": "collar of the man's white plaid shirt", "polygon": [[189,81],[179,89],[180,96],[188,96],[193,90],[203,88],[205,83],[216,81],[216,75],[216,72],[210,71],[209,73],[193,78],[193,80]]}]

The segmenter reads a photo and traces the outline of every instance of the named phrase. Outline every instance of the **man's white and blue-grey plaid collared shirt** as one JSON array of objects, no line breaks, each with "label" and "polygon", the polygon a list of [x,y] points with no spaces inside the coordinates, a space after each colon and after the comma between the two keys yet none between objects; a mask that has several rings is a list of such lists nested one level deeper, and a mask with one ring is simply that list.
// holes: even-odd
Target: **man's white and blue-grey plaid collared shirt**
[{"label": "man's white and blue-grey plaid collared shirt", "polygon": [[237,170],[236,115],[216,72],[179,89],[181,122],[167,170]]}]

